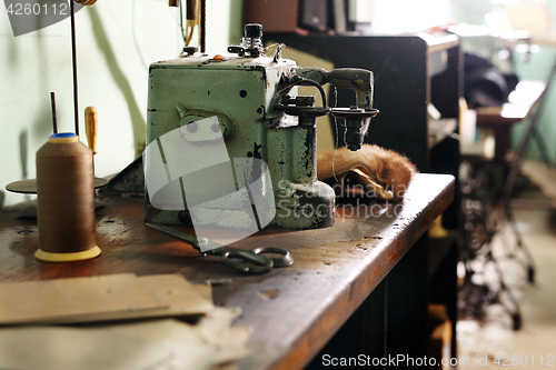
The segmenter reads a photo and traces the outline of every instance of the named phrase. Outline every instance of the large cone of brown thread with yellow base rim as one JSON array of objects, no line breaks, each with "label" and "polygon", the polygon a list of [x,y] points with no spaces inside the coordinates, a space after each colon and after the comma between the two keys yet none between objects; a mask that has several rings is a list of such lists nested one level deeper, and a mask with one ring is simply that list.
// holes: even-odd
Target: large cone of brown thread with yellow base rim
[{"label": "large cone of brown thread with yellow base rim", "polygon": [[39,250],[48,262],[95,258],[92,152],[75,133],[54,133],[37,152]]}]

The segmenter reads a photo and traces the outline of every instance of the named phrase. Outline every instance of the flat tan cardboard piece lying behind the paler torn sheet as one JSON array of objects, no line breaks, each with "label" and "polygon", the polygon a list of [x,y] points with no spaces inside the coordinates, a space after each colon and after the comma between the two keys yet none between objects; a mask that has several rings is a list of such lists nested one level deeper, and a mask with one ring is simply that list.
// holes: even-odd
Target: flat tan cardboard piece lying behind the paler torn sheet
[{"label": "flat tan cardboard piece lying behind the paler torn sheet", "polygon": [[212,301],[178,274],[132,273],[0,283],[0,324],[201,314]]}]

